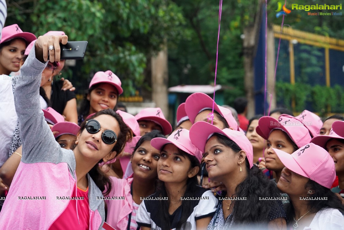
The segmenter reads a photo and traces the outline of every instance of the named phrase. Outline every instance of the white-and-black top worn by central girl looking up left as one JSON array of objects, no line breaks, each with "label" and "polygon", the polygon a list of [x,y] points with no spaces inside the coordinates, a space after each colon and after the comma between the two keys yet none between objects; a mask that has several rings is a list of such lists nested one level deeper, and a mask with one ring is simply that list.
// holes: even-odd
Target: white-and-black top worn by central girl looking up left
[{"label": "white-and-black top worn by central girl looking up left", "polygon": [[[157,194],[149,197],[155,198]],[[193,211],[186,220],[183,229],[196,230],[196,220],[205,217],[212,217],[216,211],[218,199],[213,193],[200,187],[194,197],[202,197],[200,200],[192,200]],[[161,220],[157,217],[159,212],[159,200],[144,200],[136,213],[136,222],[141,226],[150,227],[151,229],[161,230],[162,221],[170,221],[171,230],[176,229],[176,224],[181,217],[181,206],[170,215],[170,220]]]}]

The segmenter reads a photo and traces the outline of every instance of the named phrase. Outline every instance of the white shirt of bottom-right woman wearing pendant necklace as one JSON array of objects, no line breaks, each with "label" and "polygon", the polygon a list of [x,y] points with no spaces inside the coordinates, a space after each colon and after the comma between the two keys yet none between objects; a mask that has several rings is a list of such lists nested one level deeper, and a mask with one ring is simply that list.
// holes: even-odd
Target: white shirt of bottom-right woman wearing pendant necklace
[{"label": "white shirt of bottom-right woman wearing pendant necklace", "polygon": [[308,227],[303,230],[344,230],[344,217],[338,209],[328,208],[317,212]]}]

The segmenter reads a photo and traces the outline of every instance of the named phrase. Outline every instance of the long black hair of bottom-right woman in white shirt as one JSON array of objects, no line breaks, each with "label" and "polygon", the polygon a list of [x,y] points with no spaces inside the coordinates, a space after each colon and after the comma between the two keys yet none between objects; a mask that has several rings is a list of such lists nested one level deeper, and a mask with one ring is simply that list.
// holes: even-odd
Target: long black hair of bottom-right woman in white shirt
[{"label": "long black hair of bottom-right woman in white shirt", "polygon": [[[304,188],[315,191],[314,194],[309,195],[309,197],[327,198],[327,200],[308,200],[307,208],[310,212],[316,213],[327,208],[334,208],[338,209],[342,215],[344,215],[344,206],[341,200],[329,188],[319,185],[311,179],[305,184]],[[284,208],[286,209],[287,223],[289,223],[295,216],[295,210],[291,202],[286,203]]]}]

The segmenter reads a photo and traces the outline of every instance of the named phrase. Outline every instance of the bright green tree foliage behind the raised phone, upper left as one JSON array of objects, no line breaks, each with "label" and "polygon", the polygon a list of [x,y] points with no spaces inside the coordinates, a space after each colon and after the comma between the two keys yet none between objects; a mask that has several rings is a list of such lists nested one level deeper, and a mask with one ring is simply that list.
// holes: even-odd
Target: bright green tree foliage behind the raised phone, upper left
[{"label": "bright green tree foliage behind the raised phone, upper left", "polygon": [[11,2],[7,25],[17,23],[37,36],[62,30],[69,41],[88,41],[79,77],[72,78],[82,88],[95,72],[111,70],[122,80],[125,95],[133,94],[143,83],[147,56],[166,39],[178,42],[183,35],[183,15],[170,0]]}]

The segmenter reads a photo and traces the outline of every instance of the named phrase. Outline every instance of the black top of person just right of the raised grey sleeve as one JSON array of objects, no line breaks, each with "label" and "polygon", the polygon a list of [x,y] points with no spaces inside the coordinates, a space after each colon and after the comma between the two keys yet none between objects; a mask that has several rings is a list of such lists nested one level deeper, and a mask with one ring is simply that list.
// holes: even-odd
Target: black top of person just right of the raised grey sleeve
[{"label": "black top of person just right of the raised grey sleeve", "polygon": [[68,101],[76,98],[73,91],[62,90],[63,81],[54,81],[51,84],[51,107],[56,110],[57,113],[62,114]]}]

